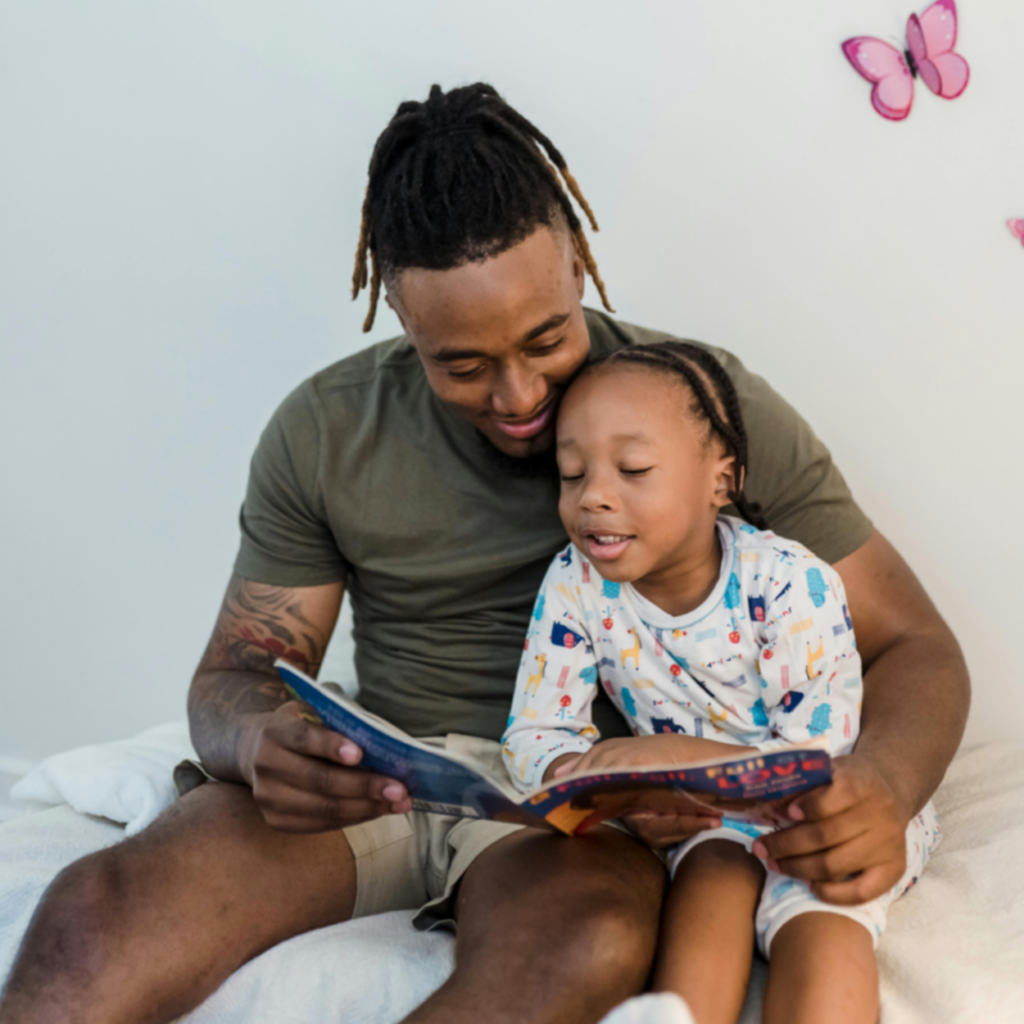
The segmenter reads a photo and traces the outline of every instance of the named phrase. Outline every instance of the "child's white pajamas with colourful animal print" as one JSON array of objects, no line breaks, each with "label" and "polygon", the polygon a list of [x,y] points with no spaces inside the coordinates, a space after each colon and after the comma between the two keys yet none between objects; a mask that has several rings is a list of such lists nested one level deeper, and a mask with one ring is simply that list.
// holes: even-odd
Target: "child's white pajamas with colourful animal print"
[{"label": "child's white pajamas with colourful animal print", "polygon": [[[673,732],[765,752],[824,737],[834,757],[853,750],[863,687],[842,580],[794,541],[729,516],[719,518],[718,530],[718,584],[699,608],[679,616],[630,584],[603,580],[571,546],[555,556],[503,737],[518,788],[540,785],[551,761],[600,739],[592,722],[598,686],[641,736]],[[760,827],[731,822],[701,833],[676,848],[673,862],[720,835],[750,849],[751,828]],[[793,880],[769,872],[758,911],[762,950],[784,921],[808,909],[846,913],[879,934],[885,907],[920,876],[938,842],[931,805],[908,837],[912,830],[909,873],[883,901],[833,908],[803,883],[787,886]]]}]

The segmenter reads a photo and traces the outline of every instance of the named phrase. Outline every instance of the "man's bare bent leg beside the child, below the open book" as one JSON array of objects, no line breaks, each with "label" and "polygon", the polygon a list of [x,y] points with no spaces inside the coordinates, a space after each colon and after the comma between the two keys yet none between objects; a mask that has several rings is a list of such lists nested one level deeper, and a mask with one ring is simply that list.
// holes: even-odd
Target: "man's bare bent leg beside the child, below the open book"
[{"label": "man's bare bent leg beside the child, below the open book", "polygon": [[455,973],[407,1024],[600,1020],[647,981],[665,884],[613,828],[501,840],[461,883]]}]

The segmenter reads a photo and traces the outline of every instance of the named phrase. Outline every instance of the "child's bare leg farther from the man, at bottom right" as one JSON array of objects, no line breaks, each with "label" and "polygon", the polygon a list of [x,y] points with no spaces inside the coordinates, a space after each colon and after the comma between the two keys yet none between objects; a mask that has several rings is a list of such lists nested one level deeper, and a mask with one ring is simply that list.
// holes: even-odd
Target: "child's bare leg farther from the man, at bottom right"
[{"label": "child's bare leg farther from the man, at bottom right", "polygon": [[876,1024],[878,1019],[870,932],[827,911],[787,921],[771,944],[764,1024]]}]

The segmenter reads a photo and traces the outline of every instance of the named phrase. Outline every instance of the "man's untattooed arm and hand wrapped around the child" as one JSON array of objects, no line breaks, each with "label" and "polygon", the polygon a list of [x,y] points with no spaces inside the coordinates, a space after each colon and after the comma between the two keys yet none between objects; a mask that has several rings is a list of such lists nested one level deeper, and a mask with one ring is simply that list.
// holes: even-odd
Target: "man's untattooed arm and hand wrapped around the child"
[{"label": "man's untattooed arm and hand wrapped around the child", "polygon": [[836,568],[865,667],[860,737],[852,755],[837,759],[830,786],[795,802],[791,814],[801,823],[762,845],[822,899],[859,903],[902,874],[907,823],[956,753],[971,683],[949,628],[881,534]]}]

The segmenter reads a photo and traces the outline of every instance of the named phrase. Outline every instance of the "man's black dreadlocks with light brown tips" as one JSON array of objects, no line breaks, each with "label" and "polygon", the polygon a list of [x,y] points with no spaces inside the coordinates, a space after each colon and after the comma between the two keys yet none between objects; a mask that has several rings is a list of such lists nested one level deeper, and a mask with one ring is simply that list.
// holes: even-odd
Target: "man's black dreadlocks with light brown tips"
[{"label": "man's black dreadlocks with light brown tips", "polygon": [[370,158],[352,272],[353,299],[370,289],[362,330],[373,327],[382,275],[407,267],[450,270],[497,256],[559,213],[605,309],[614,312],[569,195],[596,231],[565,159],[492,86],[477,82],[445,93],[433,85],[425,102],[400,103]]}]

